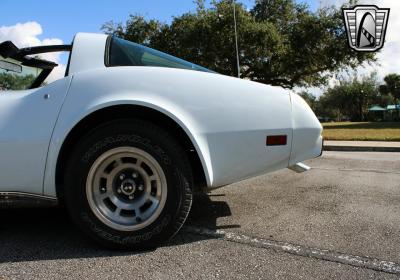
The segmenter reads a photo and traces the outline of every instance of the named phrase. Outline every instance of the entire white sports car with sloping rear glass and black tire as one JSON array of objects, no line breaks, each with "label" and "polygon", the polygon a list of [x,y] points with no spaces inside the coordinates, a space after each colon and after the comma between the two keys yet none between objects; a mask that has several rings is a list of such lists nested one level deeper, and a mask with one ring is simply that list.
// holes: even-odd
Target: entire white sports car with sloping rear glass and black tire
[{"label": "entire white sports car with sloping rear glass and black tire", "polygon": [[[38,55],[59,51],[70,53],[65,77],[46,84],[56,64]],[[298,95],[112,36],[3,42],[3,89],[7,77],[28,88],[0,92],[0,207],[63,204],[111,248],[157,246],[182,227],[194,191],[305,171],[322,151]]]}]

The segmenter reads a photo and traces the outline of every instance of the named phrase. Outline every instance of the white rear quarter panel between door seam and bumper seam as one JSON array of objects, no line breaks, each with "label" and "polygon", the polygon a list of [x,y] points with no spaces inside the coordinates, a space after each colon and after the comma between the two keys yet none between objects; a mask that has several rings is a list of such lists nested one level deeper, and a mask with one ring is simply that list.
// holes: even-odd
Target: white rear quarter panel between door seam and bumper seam
[{"label": "white rear quarter panel between door seam and bumper seam", "polygon": [[[119,104],[156,109],[192,140],[210,187],[285,168],[292,119],[287,91],[219,74],[157,67],[115,67],[75,73],[54,129],[44,193],[55,195],[55,168],[72,128],[96,110]],[[112,116],[110,116],[110,119]],[[266,146],[285,134],[288,145]]]}]

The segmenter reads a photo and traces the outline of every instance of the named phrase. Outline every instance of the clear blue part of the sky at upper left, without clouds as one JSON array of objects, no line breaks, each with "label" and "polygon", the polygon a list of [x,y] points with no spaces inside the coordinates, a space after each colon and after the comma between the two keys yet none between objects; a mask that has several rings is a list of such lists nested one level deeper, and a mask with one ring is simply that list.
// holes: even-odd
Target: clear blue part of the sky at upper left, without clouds
[{"label": "clear blue part of the sky at upper left, without clouds", "polygon": [[[241,0],[252,7],[254,0]],[[77,32],[101,32],[107,21],[125,22],[130,14],[171,22],[173,16],[194,11],[192,0],[1,0],[1,26],[37,22],[43,28],[39,39],[60,38],[70,42]]]}]

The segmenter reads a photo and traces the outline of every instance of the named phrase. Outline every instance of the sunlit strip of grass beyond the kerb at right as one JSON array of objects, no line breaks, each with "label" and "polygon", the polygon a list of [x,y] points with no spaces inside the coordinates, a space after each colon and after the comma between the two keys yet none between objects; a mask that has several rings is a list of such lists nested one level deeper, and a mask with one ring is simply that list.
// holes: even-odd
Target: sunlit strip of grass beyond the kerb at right
[{"label": "sunlit strip of grass beyond the kerb at right", "polygon": [[322,123],[326,140],[400,141],[400,122]]}]

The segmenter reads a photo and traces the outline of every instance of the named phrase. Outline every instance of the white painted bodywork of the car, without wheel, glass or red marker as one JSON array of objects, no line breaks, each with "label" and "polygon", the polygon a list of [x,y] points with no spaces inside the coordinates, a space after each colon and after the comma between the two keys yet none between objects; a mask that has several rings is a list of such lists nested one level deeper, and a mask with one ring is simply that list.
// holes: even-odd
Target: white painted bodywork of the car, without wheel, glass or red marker
[{"label": "white painted bodywork of the car, without wheel, glass or red marker", "polygon": [[[108,68],[105,46],[105,35],[79,33],[68,77],[0,94],[0,192],[56,196],[57,159],[68,133],[96,110],[120,104],[149,107],[176,121],[193,142],[209,187],[321,153],[322,127],[296,94],[213,73]],[[266,146],[267,135],[281,134],[287,145]]]}]

